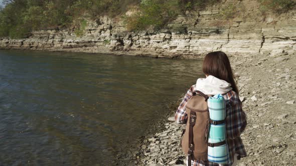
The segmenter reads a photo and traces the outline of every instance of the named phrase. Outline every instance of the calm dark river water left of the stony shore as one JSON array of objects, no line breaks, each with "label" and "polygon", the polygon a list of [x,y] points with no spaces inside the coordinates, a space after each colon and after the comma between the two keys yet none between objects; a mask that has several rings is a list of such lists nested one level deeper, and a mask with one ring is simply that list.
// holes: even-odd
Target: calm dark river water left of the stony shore
[{"label": "calm dark river water left of the stony shore", "polygon": [[0,165],[110,165],[203,76],[201,63],[0,50]]}]

